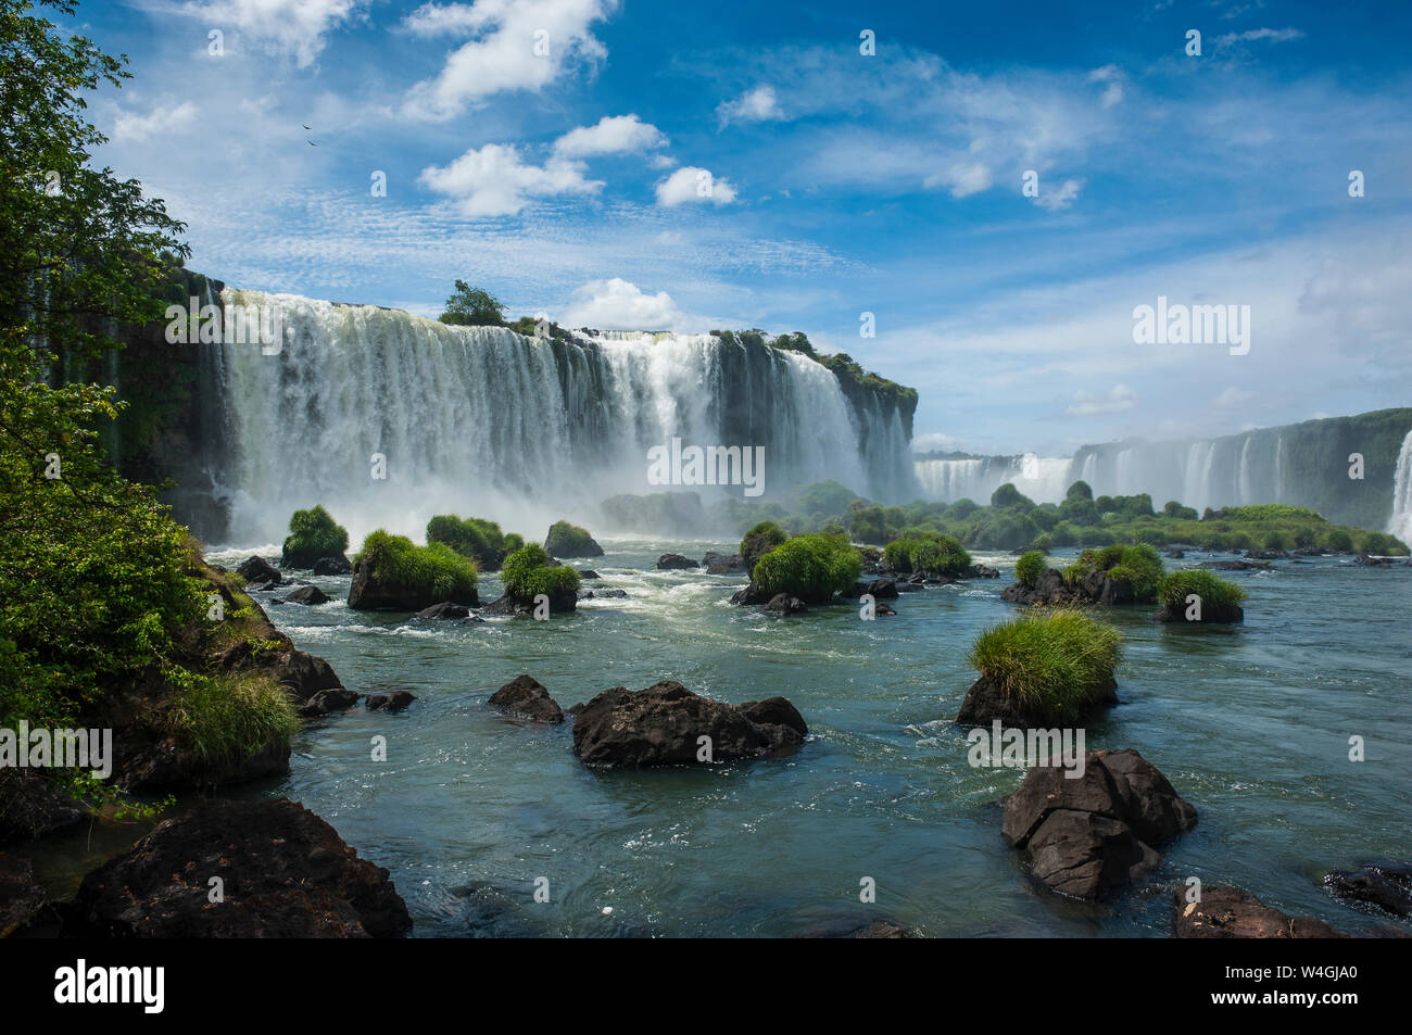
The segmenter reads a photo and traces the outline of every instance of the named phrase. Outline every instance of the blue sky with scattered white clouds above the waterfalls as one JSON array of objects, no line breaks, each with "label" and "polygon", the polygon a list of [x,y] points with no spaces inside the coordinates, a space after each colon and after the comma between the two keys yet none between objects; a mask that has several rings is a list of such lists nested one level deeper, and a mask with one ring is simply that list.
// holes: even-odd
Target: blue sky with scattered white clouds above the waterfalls
[{"label": "blue sky with scattered white clouds above the waterfalls", "polygon": [[[569,326],[803,330],[918,388],[918,449],[1412,405],[1405,0],[109,0],[59,21],[130,58],[90,103],[97,160],[233,287],[435,316],[459,278]],[[1237,306],[1248,335],[1135,340],[1159,298]]]}]

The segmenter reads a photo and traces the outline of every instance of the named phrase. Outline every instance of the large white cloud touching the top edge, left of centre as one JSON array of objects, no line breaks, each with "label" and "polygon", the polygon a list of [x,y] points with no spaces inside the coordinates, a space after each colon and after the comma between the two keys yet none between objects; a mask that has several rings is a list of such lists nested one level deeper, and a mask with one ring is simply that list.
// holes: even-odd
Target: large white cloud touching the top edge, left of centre
[{"label": "large white cloud touching the top edge, left of centre", "polygon": [[473,35],[446,58],[435,79],[411,89],[404,112],[417,119],[450,119],[505,90],[541,90],[580,62],[607,49],[593,35],[594,21],[617,10],[617,0],[479,0],[424,4],[402,25],[418,35]]}]

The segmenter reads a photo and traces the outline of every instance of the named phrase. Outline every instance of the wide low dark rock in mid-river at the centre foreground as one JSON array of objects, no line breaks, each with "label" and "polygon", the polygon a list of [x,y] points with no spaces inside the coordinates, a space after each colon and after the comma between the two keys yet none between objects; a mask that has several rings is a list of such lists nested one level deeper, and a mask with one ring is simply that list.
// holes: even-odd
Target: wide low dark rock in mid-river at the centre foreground
[{"label": "wide low dark rock in mid-river at the centre foreground", "polygon": [[751,702],[747,712],[664,681],[635,692],[614,686],[593,698],[573,719],[573,753],[594,768],[699,765],[706,762],[699,737],[710,737],[710,761],[724,762],[796,747],[806,733],[784,699]]}]

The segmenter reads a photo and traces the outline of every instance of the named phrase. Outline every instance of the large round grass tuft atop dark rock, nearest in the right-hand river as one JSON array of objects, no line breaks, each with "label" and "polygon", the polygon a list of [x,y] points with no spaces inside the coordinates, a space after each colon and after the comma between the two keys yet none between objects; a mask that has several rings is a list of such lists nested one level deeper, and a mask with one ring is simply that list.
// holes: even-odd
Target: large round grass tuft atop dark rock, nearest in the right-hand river
[{"label": "large round grass tuft atop dark rock, nearest in the right-hand river", "polygon": [[976,637],[966,661],[1027,714],[1072,720],[1113,686],[1123,635],[1073,609],[1027,611]]}]

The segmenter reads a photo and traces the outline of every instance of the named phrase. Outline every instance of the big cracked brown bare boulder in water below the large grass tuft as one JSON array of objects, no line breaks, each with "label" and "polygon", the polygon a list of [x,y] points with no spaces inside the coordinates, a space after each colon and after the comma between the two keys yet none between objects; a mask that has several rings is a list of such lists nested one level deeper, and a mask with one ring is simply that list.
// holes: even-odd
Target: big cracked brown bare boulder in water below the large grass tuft
[{"label": "big cracked brown bare boulder in water below the large grass tuft", "polygon": [[1090,751],[1083,775],[1034,767],[1007,795],[1005,843],[1059,894],[1097,899],[1161,864],[1156,847],[1196,826],[1196,809],[1137,751]]}]

